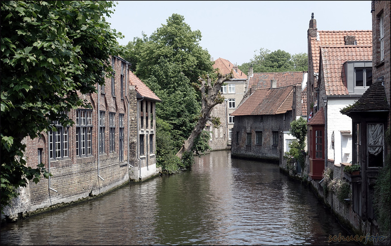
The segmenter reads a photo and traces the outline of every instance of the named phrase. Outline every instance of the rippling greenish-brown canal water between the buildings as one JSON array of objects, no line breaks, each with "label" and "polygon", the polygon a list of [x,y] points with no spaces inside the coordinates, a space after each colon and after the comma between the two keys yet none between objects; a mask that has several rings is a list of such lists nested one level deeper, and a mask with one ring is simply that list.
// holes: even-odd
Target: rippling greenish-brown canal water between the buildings
[{"label": "rippling greenish-brown canal water between the buildings", "polygon": [[1,227],[1,245],[358,245],[277,164],[195,157],[191,171]]}]

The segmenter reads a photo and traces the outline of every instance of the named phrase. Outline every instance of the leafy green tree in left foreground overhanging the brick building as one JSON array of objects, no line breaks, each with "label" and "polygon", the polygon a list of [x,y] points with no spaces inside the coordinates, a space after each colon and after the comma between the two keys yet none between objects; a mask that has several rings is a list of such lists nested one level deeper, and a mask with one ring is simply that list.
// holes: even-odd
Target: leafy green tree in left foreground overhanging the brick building
[{"label": "leafy green tree in left foreground overhanging the brick building", "polygon": [[62,113],[90,107],[80,93],[96,92],[111,74],[109,56],[122,37],[106,22],[112,1],[1,1],[1,212],[27,180],[48,173],[26,166],[24,137],[55,130]]}]

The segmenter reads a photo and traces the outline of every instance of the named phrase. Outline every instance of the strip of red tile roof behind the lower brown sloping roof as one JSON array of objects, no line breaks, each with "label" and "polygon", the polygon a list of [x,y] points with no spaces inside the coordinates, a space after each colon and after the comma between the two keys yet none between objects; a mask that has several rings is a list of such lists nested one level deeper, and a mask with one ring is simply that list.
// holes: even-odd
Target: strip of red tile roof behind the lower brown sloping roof
[{"label": "strip of red tile roof behind the lower brown sloping roof", "polygon": [[248,88],[271,88],[271,80],[277,80],[277,87],[301,84],[306,72],[256,72],[250,77]]}]

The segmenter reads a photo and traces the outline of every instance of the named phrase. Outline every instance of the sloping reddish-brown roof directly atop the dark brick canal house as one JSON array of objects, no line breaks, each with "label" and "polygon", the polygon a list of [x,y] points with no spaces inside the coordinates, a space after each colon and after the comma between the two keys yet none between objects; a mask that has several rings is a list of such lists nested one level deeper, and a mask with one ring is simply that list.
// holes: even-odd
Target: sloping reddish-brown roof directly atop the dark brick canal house
[{"label": "sloping reddish-brown roof directly atop the dark brick canal house", "polygon": [[279,114],[292,110],[293,86],[257,89],[231,113],[238,115]]}]

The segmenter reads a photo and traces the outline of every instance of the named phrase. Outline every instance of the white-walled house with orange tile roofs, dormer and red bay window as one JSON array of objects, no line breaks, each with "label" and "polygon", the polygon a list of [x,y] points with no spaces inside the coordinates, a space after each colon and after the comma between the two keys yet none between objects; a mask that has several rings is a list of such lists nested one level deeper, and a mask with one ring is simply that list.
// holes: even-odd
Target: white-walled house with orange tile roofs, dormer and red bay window
[{"label": "white-walled house with orange tile roofs, dormer and red bay window", "polygon": [[[312,14],[306,91],[311,179],[322,179],[326,166],[351,161],[351,120],[339,110],[353,104],[372,83],[371,36],[371,30],[318,31]],[[324,125],[319,120],[314,124],[311,117],[318,115],[321,108]],[[317,129],[311,131],[315,125]]]}]

